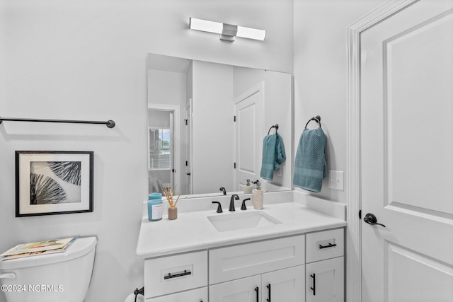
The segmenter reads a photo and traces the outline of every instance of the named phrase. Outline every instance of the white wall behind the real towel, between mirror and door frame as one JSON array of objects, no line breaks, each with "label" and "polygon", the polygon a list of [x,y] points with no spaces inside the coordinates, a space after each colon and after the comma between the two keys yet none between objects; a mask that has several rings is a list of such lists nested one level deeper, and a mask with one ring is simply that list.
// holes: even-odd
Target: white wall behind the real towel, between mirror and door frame
[{"label": "white wall behind the real towel, between mirror and door frame", "polygon": [[[294,154],[306,122],[320,115],[328,169],[345,171],[345,180],[348,26],[384,2],[294,0]],[[327,180],[316,196],[346,203],[345,191],[328,188]]]}]

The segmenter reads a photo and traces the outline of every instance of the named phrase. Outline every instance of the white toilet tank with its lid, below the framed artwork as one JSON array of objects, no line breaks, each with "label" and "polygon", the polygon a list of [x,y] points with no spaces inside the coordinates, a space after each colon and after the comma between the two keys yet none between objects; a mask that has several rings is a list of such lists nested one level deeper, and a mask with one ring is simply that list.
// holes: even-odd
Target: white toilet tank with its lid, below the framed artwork
[{"label": "white toilet tank with its lid, below the framed artwork", "polygon": [[82,302],[93,272],[96,237],[78,238],[64,252],[0,261],[8,302]]}]

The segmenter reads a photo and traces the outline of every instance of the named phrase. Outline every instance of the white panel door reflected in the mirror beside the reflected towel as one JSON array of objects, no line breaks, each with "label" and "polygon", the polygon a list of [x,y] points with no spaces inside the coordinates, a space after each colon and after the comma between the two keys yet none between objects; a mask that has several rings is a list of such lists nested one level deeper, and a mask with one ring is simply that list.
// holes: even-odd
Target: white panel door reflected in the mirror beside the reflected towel
[{"label": "white panel door reflected in the mirror beside the reflected towel", "polygon": [[234,100],[236,173],[234,190],[242,190],[245,180],[260,179],[263,156],[263,129],[261,107],[263,83],[249,88]]}]

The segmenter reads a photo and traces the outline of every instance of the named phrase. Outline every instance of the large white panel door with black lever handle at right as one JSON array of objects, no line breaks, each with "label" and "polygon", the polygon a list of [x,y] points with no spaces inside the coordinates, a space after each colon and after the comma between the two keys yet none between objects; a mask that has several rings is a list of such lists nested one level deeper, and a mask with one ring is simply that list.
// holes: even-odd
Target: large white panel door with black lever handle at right
[{"label": "large white panel door with black lever handle at right", "polygon": [[453,1],[416,1],[360,43],[362,301],[452,301]]}]

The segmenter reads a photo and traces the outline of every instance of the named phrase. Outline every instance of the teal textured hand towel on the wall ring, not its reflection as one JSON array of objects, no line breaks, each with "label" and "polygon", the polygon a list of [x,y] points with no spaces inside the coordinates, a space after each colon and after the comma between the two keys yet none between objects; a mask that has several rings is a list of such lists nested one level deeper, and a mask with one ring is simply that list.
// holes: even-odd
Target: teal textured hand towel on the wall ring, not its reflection
[{"label": "teal textured hand towel on the wall ring, not its reflection", "polygon": [[323,129],[304,129],[294,161],[294,187],[321,192],[327,178],[326,134]]}]

